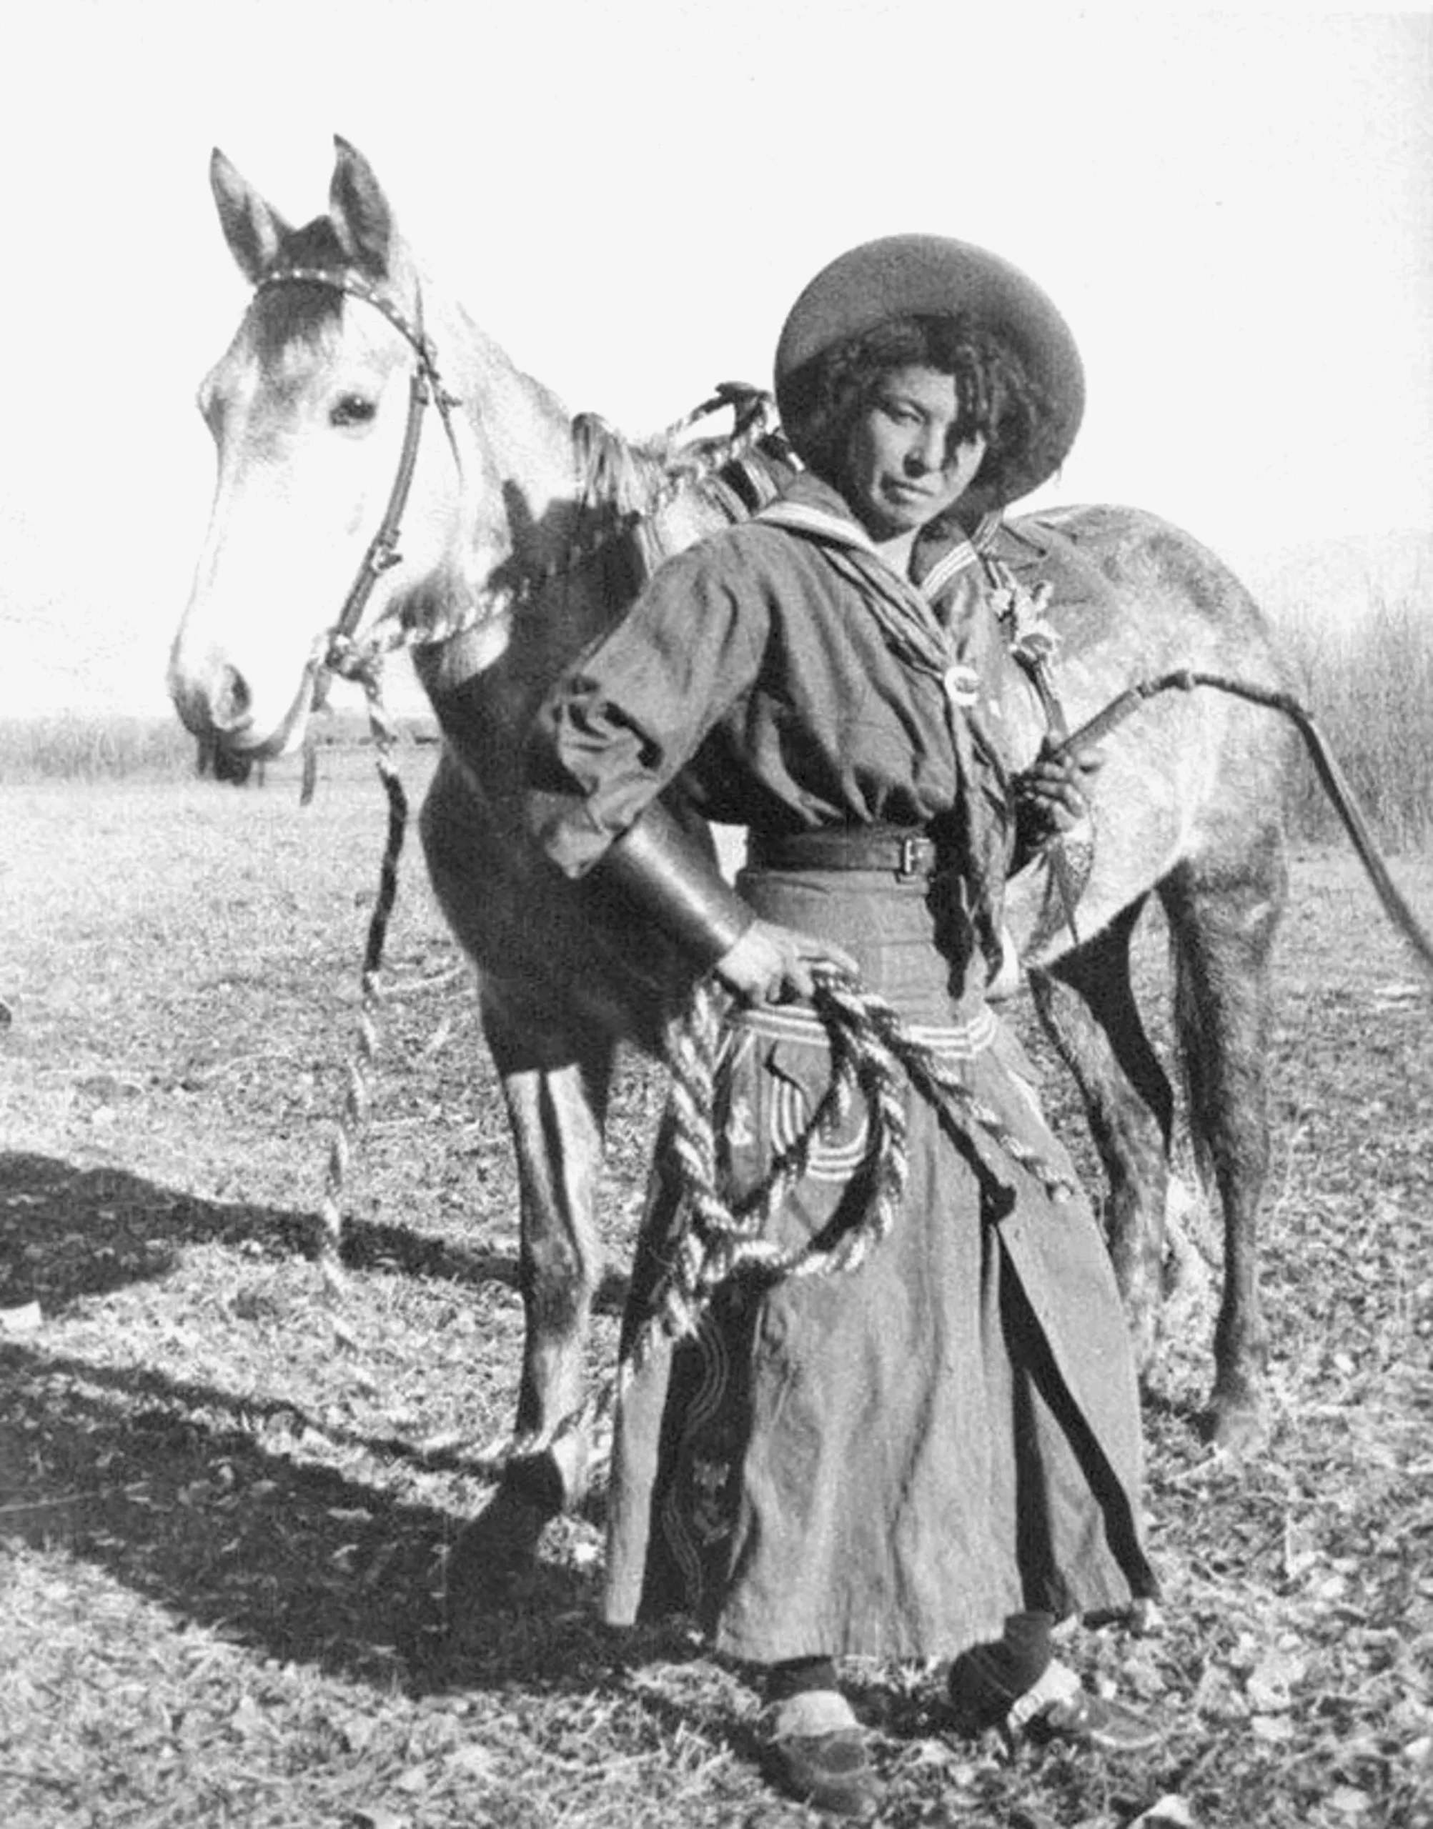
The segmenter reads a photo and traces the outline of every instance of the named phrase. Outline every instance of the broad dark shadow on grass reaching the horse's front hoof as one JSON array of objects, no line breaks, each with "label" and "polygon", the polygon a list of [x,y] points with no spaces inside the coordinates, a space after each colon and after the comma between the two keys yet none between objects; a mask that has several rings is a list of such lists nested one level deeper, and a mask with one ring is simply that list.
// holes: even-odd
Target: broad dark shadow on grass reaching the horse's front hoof
[{"label": "broad dark shadow on grass reaching the horse's front hoof", "polygon": [[551,1560],[459,1652],[443,1567],[465,1520],[265,1443],[273,1423],[302,1438],[293,1407],[5,1344],[0,1417],[0,1542],[86,1560],[260,1655],[417,1694],[589,1690],[631,1655],[593,1577]]}]

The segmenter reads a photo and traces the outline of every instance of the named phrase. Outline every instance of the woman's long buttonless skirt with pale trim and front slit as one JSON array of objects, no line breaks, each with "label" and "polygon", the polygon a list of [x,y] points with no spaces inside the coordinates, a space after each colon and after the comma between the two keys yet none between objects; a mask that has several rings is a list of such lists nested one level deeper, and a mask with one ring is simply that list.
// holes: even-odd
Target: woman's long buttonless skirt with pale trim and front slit
[{"label": "woman's long buttonless skirt with pale trim and front slit", "polygon": [[[838,940],[866,988],[954,1064],[1008,1130],[1074,1178],[1023,1052],[935,944],[924,883],[749,871],[758,913]],[[727,1037],[727,1193],[758,1185],[829,1081],[800,1006]],[[867,1200],[869,1112],[824,1136],[774,1216],[785,1247]],[[948,1657],[1008,1613],[1107,1613],[1155,1591],[1142,1546],[1129,1339],[1089,1205],[1054,1200],[950,1101],[908,1096],[908,1180],[888,1236],[846,1273],[738,1275],[694,1337],[659,1346],[622,1401],[606,1617],[694,1615],[716,1650]],[[686,1211],[659,1145],[626,1337]]]}]

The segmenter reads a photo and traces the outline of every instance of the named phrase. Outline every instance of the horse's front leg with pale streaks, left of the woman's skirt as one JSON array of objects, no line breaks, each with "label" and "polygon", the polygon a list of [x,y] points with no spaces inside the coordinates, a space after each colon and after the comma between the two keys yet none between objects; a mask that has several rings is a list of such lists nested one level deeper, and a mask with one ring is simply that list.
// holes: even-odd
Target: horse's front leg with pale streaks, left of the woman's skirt
[{"label": "horse's front leg with pale streaks, left of the woman's skirt", "polygon": [[518,1160],[525,1328],[512,1452],[496,1496],[448,1560],[459,1606],[522,1573],[544,1525],[587,1489],[586,1352],[602,1280],[595,1194],[613,1068],[600,1032],[558,1035],[490,989],[483,1026]]}]

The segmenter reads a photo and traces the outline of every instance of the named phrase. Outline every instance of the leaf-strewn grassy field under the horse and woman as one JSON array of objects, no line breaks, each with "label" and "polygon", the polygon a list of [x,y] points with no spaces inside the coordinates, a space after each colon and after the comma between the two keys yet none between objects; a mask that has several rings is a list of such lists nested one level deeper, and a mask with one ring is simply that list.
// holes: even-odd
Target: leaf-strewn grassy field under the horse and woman
[{"label": "leaf-strewn grassy field under the horse and woman", "polygon": [[[430,757],[404,761],[419,785]],[[813,1818],[752,1765],[754,1697],[679,1630],[595,1622],[564,1520],[456,1650],[454,1535],[490,1491],[520,1332],[514,1171],[415,856],[390,942],[340,1304],[307,1255],[382,797],[0,788],[0,1822],[5,1829],[732,1829]],[[1398,876],[1433,911],[1433,863]],[[1158,1000],[1158,935],[1142,944]],[[1210,1458],[1212,1289],[1147,1403],[1155,1637],[1067,1655],[1169,1727],[1118,1767],[943,1730],[857,1666],[889,1825],[1433,1824],[1429,1000],[1338,850],[1296,860],[1265,1214],[1274,1436]],[[619,1088],[622,1264],[655,1074]],[[1051,1103],[1072,1125],[1067,1088]],[[1193,1222],[1217,1266],[1208,1216]],[[33,1306],[31,1306],[33,1304]],[[609,1364],[615,1311],[595,1341]],[[1180,1818],[1175,1818],[1180,1820]]]}]

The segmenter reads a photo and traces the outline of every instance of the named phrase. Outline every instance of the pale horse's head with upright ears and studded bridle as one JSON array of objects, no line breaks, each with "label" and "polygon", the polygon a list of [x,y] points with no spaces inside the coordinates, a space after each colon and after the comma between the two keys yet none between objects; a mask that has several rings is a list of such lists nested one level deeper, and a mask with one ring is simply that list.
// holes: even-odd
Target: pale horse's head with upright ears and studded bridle
[{"label": "pale horse's head with upright ears and studded bridle", "polygon": [[296,230],[223,154],[210,163],[254,296],[199,388],[218,485],[170,695],[234,754],[300,743],[335,633],[450,611],[511,543],[501,477],[472,415],[448,410],[388,201],[335,144],[328,216]]}]

